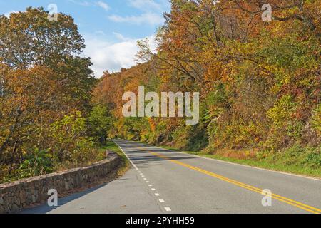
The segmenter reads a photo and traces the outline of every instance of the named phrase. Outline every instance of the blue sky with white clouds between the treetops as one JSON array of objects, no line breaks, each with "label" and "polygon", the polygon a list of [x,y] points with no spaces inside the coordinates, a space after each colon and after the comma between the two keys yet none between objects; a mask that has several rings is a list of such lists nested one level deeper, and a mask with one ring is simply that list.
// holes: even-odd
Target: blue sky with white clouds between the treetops
[{"label": "blue sky with white clouds between the treetops", "polygon": [[0,0],[0,14],[24,11],[27,6],[56,4],[73,16],[86,41],[85,55],[92,58],[96,77],[103,71],[119,71],[135,64],[136,42],[149,38],[170,10],[168,0]]}]

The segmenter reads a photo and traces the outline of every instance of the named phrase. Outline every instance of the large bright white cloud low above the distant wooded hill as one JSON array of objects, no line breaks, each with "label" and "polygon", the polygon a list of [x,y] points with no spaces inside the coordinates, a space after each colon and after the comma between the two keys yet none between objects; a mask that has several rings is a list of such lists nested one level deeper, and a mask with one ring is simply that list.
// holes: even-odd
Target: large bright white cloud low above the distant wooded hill
[{"label": "large bright white cloud low above the distant wooded hill", "polygon": [[[126,38],[119,33],[114,33],[119,38],[118,43],[106,42],[103,38],[95,36],[85,36],[86,50],[85,56],[91,57],[93,66],[91,67],[96,78],[103,75],[103,72],[120,71],[121,68],[130,68],[136,65],[135,56],[138,52],[138,39]],[[155,48],[155,36],[149,36],[150,45]]]}]

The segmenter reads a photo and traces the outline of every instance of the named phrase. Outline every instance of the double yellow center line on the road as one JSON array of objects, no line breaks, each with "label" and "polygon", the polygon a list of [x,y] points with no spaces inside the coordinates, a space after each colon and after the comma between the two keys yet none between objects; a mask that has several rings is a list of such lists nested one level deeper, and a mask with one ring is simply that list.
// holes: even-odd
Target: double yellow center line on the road
[{"label": "double yellow center line on the road", "polygon": [[[144,149],[141,148],[141,147],[140,147],[140,149],[141,149],[141,150],[144,150]],[[209,171],[203,170],[203,169],[201,169],[201,168],[199,168],[199,167],[195,167],[195,166],[192,166],[192,165],[188,165],[188,164],[186,164],[186,163],[179,162],[178,160],[170,159],[170,157],[166,157],[166,156],[164,156],[164,155],[158,154],[157,152],[151,152],[151,151],[148,151],[148,152],[151,153],[151,155],[154,155],[154,156],[156,156],[156,157],[161,157],[161,158],[163,158],[163,159],[165,159],[165,160],[168,160],[168,161],[170,161],[170,162],[173,162],[173,163],[175,163],[175,164],[177,164],[177,165],[181,165],[181,166],[183,166],[183,167],[187,167],[187,168],[189,168],[190,170],[195,170],[195,171],[198,171],[198,172],[202,172],[202,173],[205,174],[205,175],[209,175],[209,176],[215,177],[215,178],[217,178],[217,179],[219,179],[219,180],[223,180],[223,181],[225,181],[225,182],[229,182],[230,184],[237,185],[237,186],[239,186],[239,187],[243,187],[243,188],[245,188],[245,189],[247,189],[247,190],[250,190],[250,191],[253,191],[253,192],[258,192],[260,195],[263,194],[263,190],[260,189],[260,188],[258,188],[258,187],[253,187],[253,186],[247,185],[247,184],[245,184],[245,183],[243,183],[243,182],[238,182],[238,181],[232,180],[232,179],[230,179],[230,178],[228,178],[228,177],[223,177],[223,176],[221,176],[221,175],[215,174],[214,172],[209,172]],[[292,205],[293,207],[297,207],[297,208],[303,209],[303,210],[305,210],[306,212],[311,212],[311,213],[313,213],[313,214],[320,214],[320,213],[321,213],[321,209],[317,209],[317,208],[315,208],[315,207],[311,207],[311,206],[309,206],[309,205],[307,205],[307,204],[303,204],[303,203],[301,203],[301,202],[297,202],[297,201],[295,201],[295,200],[293,200],[293,199],[288,199],[287,197],[282,197],[282,196],[276,195],[276,194],[274,194],[274,193],[272,193],[271,197],[272,197],[273,199],[277,199],[277,200],[280,201],[280,202],[284,202],[284,203],[286,203],[286,204],[290,204],[290,205]]]}]

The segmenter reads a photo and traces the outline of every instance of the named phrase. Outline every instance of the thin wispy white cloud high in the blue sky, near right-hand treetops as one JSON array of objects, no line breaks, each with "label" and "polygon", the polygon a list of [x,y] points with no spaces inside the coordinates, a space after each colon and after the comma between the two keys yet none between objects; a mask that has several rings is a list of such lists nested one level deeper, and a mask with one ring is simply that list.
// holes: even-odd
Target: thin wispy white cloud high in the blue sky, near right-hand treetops
[{"label": "thin wispy white cloud high in the blue sky, near right-hand treetops", "polygon": [[108,19],[114,22],[126,22],[129,24],[150,24],[151,26],[162,24],[164,19],[163,16],[147,12],[138,16],[118,16],[118,15],[111,15],[108,16]]}]

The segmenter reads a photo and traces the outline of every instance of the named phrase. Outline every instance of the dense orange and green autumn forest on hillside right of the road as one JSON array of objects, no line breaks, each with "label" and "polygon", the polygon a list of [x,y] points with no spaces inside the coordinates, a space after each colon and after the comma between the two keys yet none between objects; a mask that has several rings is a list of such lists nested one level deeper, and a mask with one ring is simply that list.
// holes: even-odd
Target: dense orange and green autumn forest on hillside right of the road
[{"label": "dense orange and green autumn forest on hillside right of the road", "polygon": [[[171,3],[157,53],[140,41],[141,64],[106,72],[93,90],[107,135],[320,170],[321,1],[271,0],[272,21],[260,0]],[[121,96],[138,86],[199,91],[200,123],[123,118]]]}]

